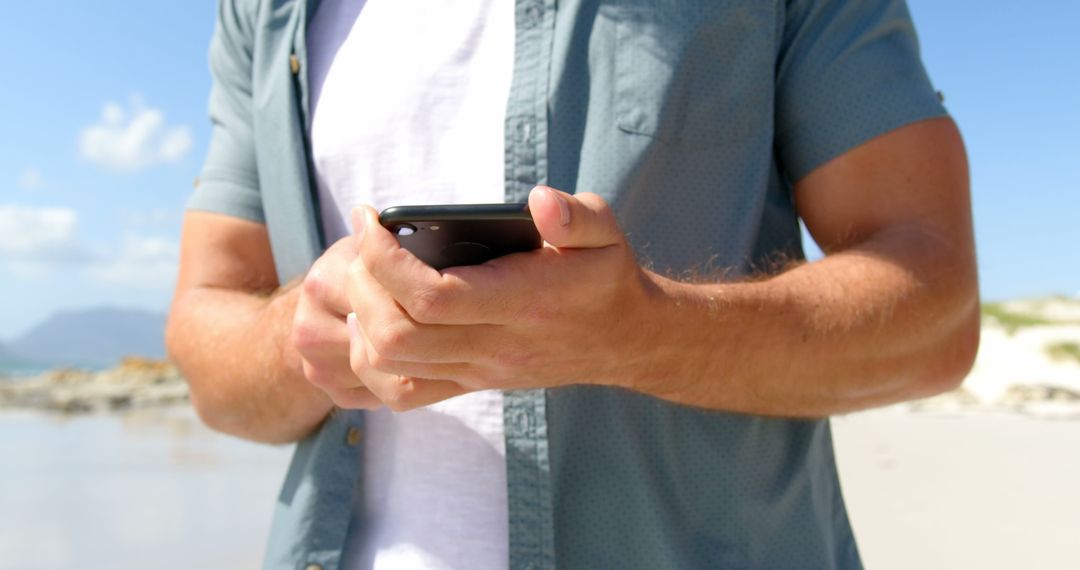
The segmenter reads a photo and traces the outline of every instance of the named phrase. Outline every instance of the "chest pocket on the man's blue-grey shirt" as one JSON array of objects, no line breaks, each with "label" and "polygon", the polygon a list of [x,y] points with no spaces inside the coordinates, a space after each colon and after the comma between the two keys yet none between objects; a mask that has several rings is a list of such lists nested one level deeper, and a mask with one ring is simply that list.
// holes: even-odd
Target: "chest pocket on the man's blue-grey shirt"
[{"label": "chest pocket on the man's blue-grey shirt", "polygon": [[630,0],[616,12],[624,133],[716,146],[772,127],[777,10],[755,0]]}]

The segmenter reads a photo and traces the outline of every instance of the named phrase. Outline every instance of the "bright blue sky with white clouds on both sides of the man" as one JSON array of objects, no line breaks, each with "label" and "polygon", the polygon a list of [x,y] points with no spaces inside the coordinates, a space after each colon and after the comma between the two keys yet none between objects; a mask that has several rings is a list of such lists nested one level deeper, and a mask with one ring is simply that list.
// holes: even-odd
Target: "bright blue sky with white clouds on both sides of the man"
[{"label": "bright blue sky with white clouds on both sides of the man", "polygon": [[[215,4],[5,6],[0,340],[64,309],[167,310]],[[968,145],[984,299],[1080,295],[1080,2],[908,4]]]}]

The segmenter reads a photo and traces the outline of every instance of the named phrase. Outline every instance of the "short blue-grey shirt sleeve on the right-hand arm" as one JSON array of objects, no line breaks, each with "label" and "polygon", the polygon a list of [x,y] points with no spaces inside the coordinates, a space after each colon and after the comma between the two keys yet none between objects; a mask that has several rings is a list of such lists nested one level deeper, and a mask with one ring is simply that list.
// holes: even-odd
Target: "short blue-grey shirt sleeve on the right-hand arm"
[{"label": "short blue-grey shirt sleeve on the right-hand arm", "polygon": [[792,180],[867,140],[946,114],[904,0],[787,0],[777,150]]}]

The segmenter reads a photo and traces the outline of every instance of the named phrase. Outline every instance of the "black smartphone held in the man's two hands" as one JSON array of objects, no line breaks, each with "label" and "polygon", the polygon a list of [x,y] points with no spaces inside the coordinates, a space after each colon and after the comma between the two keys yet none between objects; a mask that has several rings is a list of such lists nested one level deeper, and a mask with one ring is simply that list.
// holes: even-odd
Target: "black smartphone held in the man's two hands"
[{"label": "black smartphone held in the man's two hands", "polygon": [[394,206],[379,214],[379,222],[435,269],[475,266],[543,244],[524,203]]}]

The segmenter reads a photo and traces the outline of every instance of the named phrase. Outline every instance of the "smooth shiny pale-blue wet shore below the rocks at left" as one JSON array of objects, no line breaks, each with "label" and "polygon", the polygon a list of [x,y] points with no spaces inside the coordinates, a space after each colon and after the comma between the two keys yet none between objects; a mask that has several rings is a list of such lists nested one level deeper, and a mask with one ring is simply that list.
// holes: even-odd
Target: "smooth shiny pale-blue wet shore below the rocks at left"
[{"label": "smooth shiny pale-blue wet shore below the rocks at left", "polygon": [[188,409],[0,412],[0,570],[257,568],[289,453]]}]

